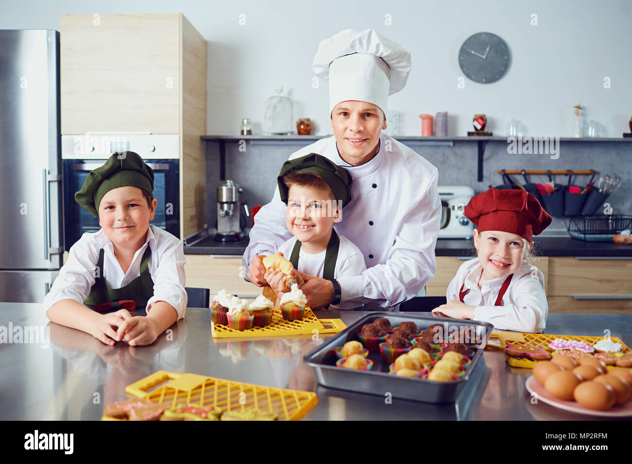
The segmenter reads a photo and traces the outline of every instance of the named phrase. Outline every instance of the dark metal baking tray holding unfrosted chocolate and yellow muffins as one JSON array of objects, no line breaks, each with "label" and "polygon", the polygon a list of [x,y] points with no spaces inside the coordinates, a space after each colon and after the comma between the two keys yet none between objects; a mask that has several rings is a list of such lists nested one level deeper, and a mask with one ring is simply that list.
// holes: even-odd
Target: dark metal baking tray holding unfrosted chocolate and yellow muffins
[{"label": "dark metal baking tray holding unfrosted chocolate and yellow muffins", "polygon": [[[481,343],[475,350],[470,367],[465,371],[462,379],[453,382],[435,382],[426,379],[413,379],[398,377],[389,374],[389,366],[382,362],[379,352],[369,353],[368,359],[373,360],[371,371],[356,371],[336,367],[336,353],[334,348],[342,347],[344,343],[358,340],[358,332],[364,324],[370,324],[377,318],[386,318],[393,327],[404,321],[413,321],[420,330],[425,330],[431,324],[445,324],[447,333],[463,326],[473,326],[480,336]],[[312,350],[303,358],[308,366],[314,368],[318,382],[329,388],[357,391],[370,395],[379,395],[382,398],[390,395],[404,400],[415,400],[425,403],[453,403],[461,394],[471,378],[471,374],[480,362],[483,348],[492,333],[494,326],[481,321],[461,319],[443,319],[433,316],[416,316],[415,314],[399,314],[397,312],[372,312],[362,319],[351,324],[336,336],[329,338],[320,347]],[[483,361],[484,362],[484,361]]]}]

